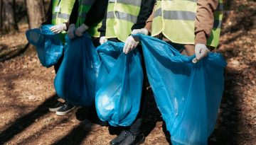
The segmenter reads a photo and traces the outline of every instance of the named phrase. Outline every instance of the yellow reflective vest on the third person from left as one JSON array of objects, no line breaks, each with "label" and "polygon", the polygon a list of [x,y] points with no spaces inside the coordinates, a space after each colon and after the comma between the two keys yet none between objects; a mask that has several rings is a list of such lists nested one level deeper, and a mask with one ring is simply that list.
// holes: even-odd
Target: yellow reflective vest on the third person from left
[{"label": "yellow reflective vest on the third person from left", "polygon": [[142,0],[109,0],[107,6],[106,37],[124,42],[137,23]]}]

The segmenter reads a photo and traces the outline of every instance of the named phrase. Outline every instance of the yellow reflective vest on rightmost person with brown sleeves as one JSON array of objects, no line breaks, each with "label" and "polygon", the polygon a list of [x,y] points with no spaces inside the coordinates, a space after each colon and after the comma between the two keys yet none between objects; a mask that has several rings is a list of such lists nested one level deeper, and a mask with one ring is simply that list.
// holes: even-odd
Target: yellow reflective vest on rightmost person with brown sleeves
[{"label": "yellow reflective vest on rightmost person with brown sleeves", "polygon": [[[196,0],[158,0],[154,10],[152,36],[163,35],[171,42],[193,45],[195,40]],[[217,47],[223,18],[223,0],[214,13],[214,25],[207,45]]]}]

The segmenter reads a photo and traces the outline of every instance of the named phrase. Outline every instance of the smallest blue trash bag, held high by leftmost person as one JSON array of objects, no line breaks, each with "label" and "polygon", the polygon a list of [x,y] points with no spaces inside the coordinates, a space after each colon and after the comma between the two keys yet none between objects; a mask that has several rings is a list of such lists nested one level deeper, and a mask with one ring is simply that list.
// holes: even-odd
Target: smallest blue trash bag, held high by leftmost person
[{"label": "smallest blue trash bag, held high by leftmost person", "polygon": [[26,31],[28,42],[36,46],[38,58],[47,68],[56,64],[63,55],[63,42],[58,34],[51,32],[52,26],[43,25],[41,28]]}]

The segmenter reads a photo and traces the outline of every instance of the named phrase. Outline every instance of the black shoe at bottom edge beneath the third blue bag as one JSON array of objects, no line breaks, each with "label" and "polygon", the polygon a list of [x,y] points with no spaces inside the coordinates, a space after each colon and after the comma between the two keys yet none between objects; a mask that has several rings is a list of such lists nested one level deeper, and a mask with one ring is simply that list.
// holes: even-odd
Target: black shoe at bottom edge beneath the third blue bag
[{"label": "black shoe at bottom edge beneath the third blue bag", "polygon": [[119,145],[139,145],[139,144],[143,144],[145,141],[145,137],[144,134],[128,134],[128,136],[126,137],[126,139],[124,139],[124,141],[122,141]]}]

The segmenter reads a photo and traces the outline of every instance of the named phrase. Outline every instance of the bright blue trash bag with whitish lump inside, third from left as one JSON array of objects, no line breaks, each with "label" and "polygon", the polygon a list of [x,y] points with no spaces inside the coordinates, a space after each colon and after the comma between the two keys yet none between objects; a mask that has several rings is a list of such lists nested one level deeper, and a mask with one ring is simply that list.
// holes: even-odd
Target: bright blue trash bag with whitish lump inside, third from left
[{"label": "bright blue trash bag with whitish lump inside, third from left", "polygon": [[137,50],[124,54],[123,42],[97,47],[102,59],[96,87],[100,120],[112,126],[130,126],[137,117],[142,97],[142,58]]}]

